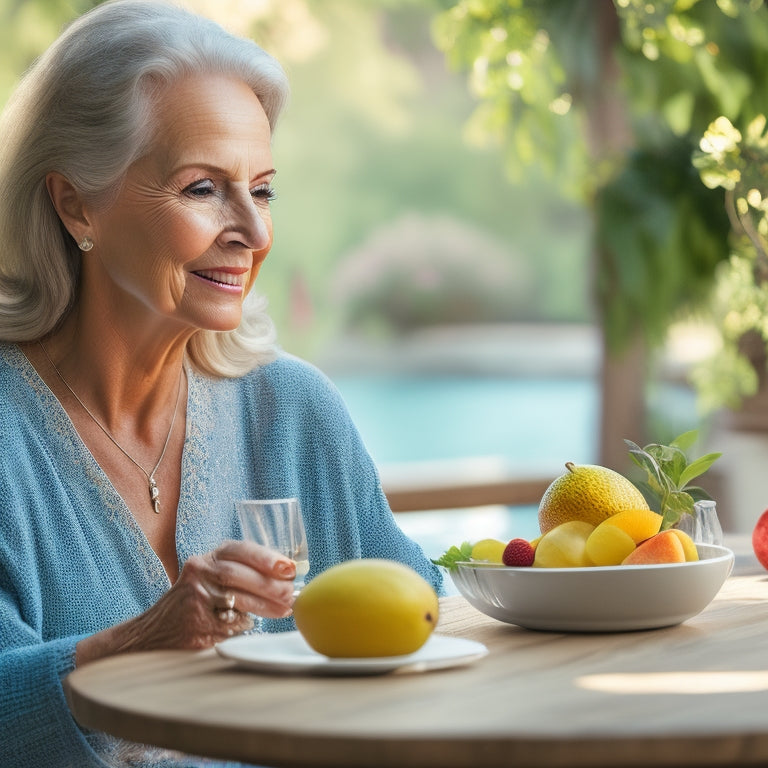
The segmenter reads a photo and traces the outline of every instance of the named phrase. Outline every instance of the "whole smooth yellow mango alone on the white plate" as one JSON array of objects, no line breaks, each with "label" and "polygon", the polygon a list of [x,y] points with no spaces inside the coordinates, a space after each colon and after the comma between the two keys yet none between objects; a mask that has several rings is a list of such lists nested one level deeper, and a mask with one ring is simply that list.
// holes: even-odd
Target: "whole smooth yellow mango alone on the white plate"
[{"label": "whole smooth yellow mango alone on the white plate", "polygon": [[316,576],[293,605],[307,644],[333,658],[414,653],[437,624],[435,590],[392,560],[348,560]]}]

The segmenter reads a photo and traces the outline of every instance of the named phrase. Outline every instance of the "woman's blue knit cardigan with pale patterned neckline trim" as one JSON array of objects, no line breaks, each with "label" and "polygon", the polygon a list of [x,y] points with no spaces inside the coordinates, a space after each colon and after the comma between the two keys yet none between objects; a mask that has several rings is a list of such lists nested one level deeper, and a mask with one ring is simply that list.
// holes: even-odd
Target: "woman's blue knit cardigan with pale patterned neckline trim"
[{"label": "woman's blue knit cardigan with pale patterned neckline trim", "polygon": [[[320,372],[288,356],[237,379],[189,371],[179,564],[238,537],[235,499],[286,496],[301,502],[310,578],[383,557],[442,590]],[[169,587],[56,397],[16,345],[0,344],[0,766],[214,765],[84,731],[64,698],[78,640],[145,611]]]}]

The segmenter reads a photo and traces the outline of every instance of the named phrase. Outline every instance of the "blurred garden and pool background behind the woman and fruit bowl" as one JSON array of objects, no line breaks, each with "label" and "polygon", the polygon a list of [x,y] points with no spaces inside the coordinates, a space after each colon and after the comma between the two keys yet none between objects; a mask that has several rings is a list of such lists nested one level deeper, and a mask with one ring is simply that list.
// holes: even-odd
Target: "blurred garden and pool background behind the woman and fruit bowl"
[{"label": "blurred garden and pool background behind the woman and fruit bowl", "polygon": [[[0,0],[0,101],[96,4]],[[697,429],[696,455],[723,452],[702,482],[723,526],[751,530],[768,506],[762,0],[181,4],[288,72],[257,288],[385,488],[628,473],[624,438]],[[538,532],[524,498],[398,514],[431,556]]]}]

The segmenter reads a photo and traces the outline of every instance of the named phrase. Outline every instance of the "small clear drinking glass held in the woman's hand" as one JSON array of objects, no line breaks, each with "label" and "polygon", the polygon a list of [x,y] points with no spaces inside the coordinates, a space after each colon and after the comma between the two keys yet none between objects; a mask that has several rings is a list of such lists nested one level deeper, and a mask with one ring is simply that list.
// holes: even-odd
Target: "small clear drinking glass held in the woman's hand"
[{"label": "small clear drinking glass held in the woman's hand", "polygon": [[[291,499],[244,499],[235,502],[240,518],[243,538],[254,541],[296,563],[296,579],[293,594],[304,586],[309,571],[309,554],[304,519],[299,500]],[[261,617],[253,616],[254,632],[262,630]]]}]

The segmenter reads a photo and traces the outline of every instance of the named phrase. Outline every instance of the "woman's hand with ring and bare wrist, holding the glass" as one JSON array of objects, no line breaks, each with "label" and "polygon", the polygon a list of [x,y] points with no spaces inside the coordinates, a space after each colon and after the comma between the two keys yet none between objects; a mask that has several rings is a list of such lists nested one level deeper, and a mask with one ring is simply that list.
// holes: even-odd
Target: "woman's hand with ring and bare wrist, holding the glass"
[{"label": "woman's hand with ring and bare wrist, holding the glass", "polygon": [[253,626],[248,614],[289,616],[296,566],[248,541],[225,541],[190,557],[176,583],[147,611],[77,644],[79,666],[126,651],[210,648]]}]

